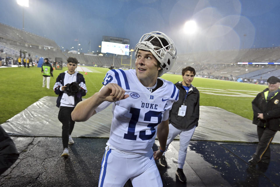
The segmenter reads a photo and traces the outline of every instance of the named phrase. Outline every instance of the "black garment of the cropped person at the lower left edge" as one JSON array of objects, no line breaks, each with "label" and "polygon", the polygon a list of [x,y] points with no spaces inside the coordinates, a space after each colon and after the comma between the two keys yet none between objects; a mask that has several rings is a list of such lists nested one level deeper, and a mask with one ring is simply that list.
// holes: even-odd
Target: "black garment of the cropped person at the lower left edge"
[{"label": "black garment of the cropped person at the lower left edge", "polygon": [[0,175],[13,165],[19,155],[13,140],[0,127]]}]

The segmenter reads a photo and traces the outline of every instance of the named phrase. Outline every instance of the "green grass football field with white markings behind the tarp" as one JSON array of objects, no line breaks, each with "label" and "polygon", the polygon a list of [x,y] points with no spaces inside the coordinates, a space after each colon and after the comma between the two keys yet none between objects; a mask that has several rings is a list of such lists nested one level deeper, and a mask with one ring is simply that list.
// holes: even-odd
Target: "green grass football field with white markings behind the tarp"
[{"label": "green grass football field with white markings behind the tarp", "polygon": [[[84,72],[81,72],[85,77],[85,82],[88,88],[88,93],[84,98],[88,98],[95,92],[99,91],[102,87],[101,82],[103,82],[105,73],[108,71],[108,68],[102,67],[87,68],[90,70],[97,70],[102,73],[88,72],[87,75],[84,75]],[[51,77],[50,79],[51,89],[42,88],[43,78],[40,70],[41,68],[38,67],[0,68],[0,124],[4,123],[6,120],[10,119],[44,96],[57,96],[52,90],[52,87],[55,84],[58,74],[67,70],[67,68],[64,67],[63,70],[54,70],[54,78]],[[173,83],[182,80],[181,75],[172,74],[165,74],[162,78]],[[267,87],[264,85],[246,84],[216,79],[203,79],[199,77],[195,77],[192,84],[195,87],[198,87],[200,91],[200,105],[223,108],[250,120],[253,118],[253,111],[251,107],[253,96]],[[206,94],[204,92],[212,94]],[[248,92],[250,92],[252,97],[246,97],[246,95],[245,97],[241,97]],[[213,94],[224,94],[225,96]]]}]

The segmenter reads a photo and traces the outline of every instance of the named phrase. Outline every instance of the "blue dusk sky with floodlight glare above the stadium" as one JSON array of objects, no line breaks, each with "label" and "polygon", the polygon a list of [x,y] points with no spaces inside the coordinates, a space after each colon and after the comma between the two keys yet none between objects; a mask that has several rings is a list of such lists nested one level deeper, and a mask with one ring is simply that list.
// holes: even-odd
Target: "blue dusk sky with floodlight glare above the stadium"
[{"label": "blue dusk sky with floodlight glare above the stadium", "polygon": [[[22,29],[22,6],[1,0],[0,22]],[[80,43],[82,52],[99,50],[102,36],[130,39],[161,31],[177,54],[280,46],[278,0],[30,0],[24,30],[53,39],[64,49]],[[197,31],[185,32],[193,20]],[[77,41],[74,41],[78,39]]]}]

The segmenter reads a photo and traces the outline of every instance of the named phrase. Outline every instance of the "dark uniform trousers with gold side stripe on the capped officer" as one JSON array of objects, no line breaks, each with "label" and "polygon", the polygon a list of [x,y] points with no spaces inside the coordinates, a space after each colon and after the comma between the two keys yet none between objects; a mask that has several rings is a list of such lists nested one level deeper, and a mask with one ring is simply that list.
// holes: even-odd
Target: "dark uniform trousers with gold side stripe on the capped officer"
[{"label": "dark uniform trousers with gold side stripe on the capped officer", "polygon": [[270,130],[266,127],[257,126],[257,132],[258,132],[259,143],[253,157],[255,157],[258,162],[260,160],[269,160],[270,159],[269,144],[271,143],[277,131]]}]

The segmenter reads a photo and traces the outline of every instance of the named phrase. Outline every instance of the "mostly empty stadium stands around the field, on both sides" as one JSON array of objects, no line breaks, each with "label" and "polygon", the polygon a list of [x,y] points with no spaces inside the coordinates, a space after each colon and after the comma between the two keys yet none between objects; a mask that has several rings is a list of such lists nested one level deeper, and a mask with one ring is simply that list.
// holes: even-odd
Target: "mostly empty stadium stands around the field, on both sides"
[{"label": "mostly empty stadium stands around the field, on both sides", "polygon": [[[130,68],[130,58],[125,56],[97,56],[93,54],[63,53],[55,41],[46,37],[26,32],[9,25],[0,23],[0,49],[1,57],[11,56],[17,58],[20,50],[31,54],[32,59],[48,57],[54,60],[60,57],[66,62],[69,56],[76,57],[81,65]],[[267,79],[269,76],[280,77],[277,65],[237,65],[238,62],[280,62],[280,47],[256,48],[227,51],[207,51],[178,54],[173,68],[169,73],[181,74],[183,67],[192,66],[197,76],[209,78],[252,78]],[[132,61],[134,67],[135,60]],[[236,80],[236,79],[235,79]]]}]

